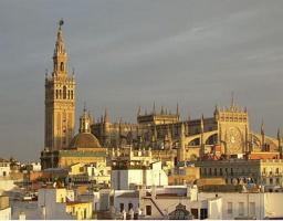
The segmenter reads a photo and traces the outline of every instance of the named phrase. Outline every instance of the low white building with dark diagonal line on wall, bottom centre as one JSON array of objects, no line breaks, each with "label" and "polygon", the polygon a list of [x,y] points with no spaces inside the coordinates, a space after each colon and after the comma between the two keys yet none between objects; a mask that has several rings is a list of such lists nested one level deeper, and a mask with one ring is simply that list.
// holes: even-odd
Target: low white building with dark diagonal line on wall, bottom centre
[{"label": "low white building with dark diagonal line on wall, bottom centre", "polygon": [[[164,188],[139,190],[115,190],[114,208],[116,217],[134,211],[139,219],[169,219],[169,214],[178,206],[182,206],[196,219],[221,219],[221,213],[216,215],[211,210],[221,208],[219,197],[198,199],[197,187],[168,186]],[[209,215],[210,214],[210,215]]]}]

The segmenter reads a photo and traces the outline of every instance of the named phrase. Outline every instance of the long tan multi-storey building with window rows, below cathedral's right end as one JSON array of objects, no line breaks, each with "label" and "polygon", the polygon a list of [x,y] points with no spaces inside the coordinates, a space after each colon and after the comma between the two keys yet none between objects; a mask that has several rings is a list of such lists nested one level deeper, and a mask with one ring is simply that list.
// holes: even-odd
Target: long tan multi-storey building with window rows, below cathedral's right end
[{"label": "long tan multi-storey building with window rows, below cathedral's right end", "polygon": [[250,181],[258,185],[282,186],[282,159],[229,159],[196,161],[201,178],[224,178],[227,183]]}]

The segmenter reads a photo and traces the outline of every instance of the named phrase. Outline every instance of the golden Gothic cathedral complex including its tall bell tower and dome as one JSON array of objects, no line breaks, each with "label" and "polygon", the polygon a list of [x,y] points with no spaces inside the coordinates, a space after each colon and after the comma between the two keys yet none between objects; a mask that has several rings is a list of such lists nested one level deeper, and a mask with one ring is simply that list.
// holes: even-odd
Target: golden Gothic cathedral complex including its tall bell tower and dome
[{"label": "golden Gothic cathedral complex including its tall bell tower and dome", "polygon": [[[67,72],[63,21],[60,21],[53,54],[53,72],[45,77],[45,146],[41,152],[43,168],[64,167],[78,161],[105,161],[113,150],[147,149],[163,161],[221,159],[269,152],[282,159],[282,137],[276,138],[250,128],[249,112],[233,98],[228,107],[214,107],[210,117],[181,119],[176,110],[156,108],[150,113],[137,110],[136,123],[113,123],[109,113],[97,122],[84,109],[80,130],[75,127],[75,78]],[[109,151],[107,151],[109,150]]]}]

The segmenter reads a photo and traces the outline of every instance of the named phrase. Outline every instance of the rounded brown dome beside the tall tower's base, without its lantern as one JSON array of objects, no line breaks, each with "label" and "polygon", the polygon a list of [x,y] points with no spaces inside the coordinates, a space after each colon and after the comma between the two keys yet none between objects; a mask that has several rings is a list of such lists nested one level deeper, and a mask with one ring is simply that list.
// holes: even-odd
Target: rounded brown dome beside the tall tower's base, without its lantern
[{"label": "rounded brown dome beside the tall tower's base, without its lantern", "polygon": [[93,134],[80,133],[72,139],[70,148],[101,148],[101,144]]}]

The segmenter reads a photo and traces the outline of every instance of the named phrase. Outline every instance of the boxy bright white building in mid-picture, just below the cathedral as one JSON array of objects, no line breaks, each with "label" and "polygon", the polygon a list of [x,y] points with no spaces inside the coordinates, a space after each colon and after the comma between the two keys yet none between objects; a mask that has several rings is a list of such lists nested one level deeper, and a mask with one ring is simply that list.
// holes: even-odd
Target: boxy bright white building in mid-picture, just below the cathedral
[{"label": "boxy bright white building in mid-picture, just below the cathedral", "polygon": [[161,161],[140,165],[130,161],[129,165],[112,167],[111,187],[115,190],[129,190],[136,186],[167,186],[168,177],[163,170]]}]

